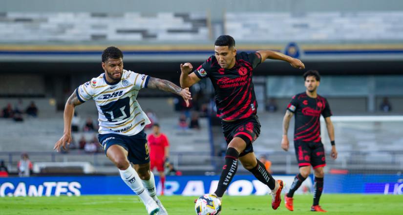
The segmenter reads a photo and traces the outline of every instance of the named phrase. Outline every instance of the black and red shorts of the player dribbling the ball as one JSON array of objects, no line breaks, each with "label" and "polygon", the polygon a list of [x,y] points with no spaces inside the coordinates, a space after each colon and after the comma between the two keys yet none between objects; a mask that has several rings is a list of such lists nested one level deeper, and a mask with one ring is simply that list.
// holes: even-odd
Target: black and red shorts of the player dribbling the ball
[{"label": "black and red shorts of the player dribbling the ball", "polygon": [[234,137],[242,138],[246,142],[246,148],[239,154],[239,157],[253,152],[252,143],[260,134],[260,123],[257,116],[251,116],[233,122],[221,120],[221,127],[227,145]]}]

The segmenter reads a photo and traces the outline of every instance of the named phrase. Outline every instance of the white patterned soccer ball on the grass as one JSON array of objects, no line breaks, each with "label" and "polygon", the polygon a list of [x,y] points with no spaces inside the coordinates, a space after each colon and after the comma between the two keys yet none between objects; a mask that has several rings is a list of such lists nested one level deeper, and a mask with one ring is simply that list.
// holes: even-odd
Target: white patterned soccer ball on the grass
[{"label": "white patterned soccer ball on the grass", "polygon": [[204,194],[195,203],[194,209],[197,215],[219,215],[221,213],[221,201],[215,195]]}]

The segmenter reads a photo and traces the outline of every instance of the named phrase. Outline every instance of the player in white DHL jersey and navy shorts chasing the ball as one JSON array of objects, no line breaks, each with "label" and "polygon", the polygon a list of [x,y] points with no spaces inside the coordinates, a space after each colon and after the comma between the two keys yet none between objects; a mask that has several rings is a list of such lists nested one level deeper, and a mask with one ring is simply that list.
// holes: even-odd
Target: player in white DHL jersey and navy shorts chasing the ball
[{"label": "player in white DHL jersey and navy shorts chasing the ball", "polygon": [[[140,89],[156,88],[182,96],[189,105],[189,88],[148,75],[123,69],[123,53],[108,47],[102,53],[105,73],[80,85],[64,107],[64,135],[54,149],[65,149],[71,142],[71,119],[74,108],[89,99],[96,102],[99,114],[99,141],[106,156],[119,169],[122,180],[142,199],[148,215],[168,215],[156,196],[154,175],[150,172],[147,135],[144,127],[150,123],[137,102]],[[134,164],[134,169],[130,163]],[[145,188],[148,192],[144,192]]]}]

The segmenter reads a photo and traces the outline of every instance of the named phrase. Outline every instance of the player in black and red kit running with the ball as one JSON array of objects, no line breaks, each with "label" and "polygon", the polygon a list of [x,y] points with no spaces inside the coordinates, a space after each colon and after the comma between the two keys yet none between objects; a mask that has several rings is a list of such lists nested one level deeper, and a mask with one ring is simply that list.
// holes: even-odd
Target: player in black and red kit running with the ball
[{"label": "player in black and red kit running with the ball", "polygon": [[221,172],[216,196],[221,198],[227,190],[237,170],[239,159],[243,167],[266,184],[272,191],[272,207],[277,209],[281,202],[283,182],[275,180],[266,171],[264,164],[256,159],[252,143],[260,133],[260,123],[256,116],[257,103],[252,82],[253,69],[266,59],[282,60],[293,67],[303,69],[298,59],[275,51],[240,52],[235,49],[231,36],[222,35],[214,43],[215,55],[207,59],[191,73],[190,63],[181,64],[180,84],[190,87],[202,78],[210,78],[215,89],[217,116],[228,144],[225,165]]}]

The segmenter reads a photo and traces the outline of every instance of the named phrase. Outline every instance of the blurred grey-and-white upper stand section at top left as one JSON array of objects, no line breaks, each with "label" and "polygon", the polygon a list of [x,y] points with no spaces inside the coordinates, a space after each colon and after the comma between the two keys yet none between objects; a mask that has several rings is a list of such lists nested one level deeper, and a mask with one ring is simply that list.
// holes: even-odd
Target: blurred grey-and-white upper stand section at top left
[{"label": "blurred grey-and-white upper stand section at top left", "polygon": [[[117,24],[118,23],[118,24]],[[192,41],[209,38],[204,13],[18,13],[0,17],[0,42]]]}]

